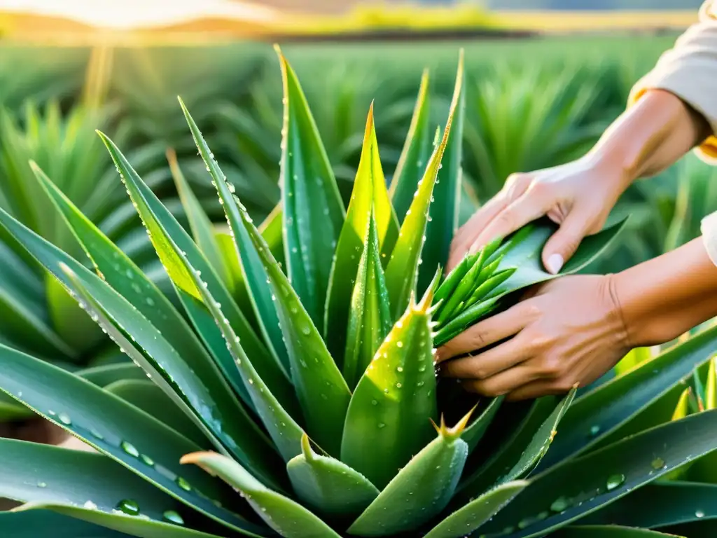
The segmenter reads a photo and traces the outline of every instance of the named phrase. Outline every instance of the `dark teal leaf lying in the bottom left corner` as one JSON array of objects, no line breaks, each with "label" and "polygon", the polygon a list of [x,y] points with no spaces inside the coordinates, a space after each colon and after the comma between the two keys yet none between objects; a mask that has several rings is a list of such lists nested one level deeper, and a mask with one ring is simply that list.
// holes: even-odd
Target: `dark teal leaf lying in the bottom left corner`
[{"label": "dark teal leaf lying in the bottom left corner", "polygon": [[52,529],[53,538],[127,538],[128,534],[105,529],[47,509],[0,512],[4,538],[37,538]]}]

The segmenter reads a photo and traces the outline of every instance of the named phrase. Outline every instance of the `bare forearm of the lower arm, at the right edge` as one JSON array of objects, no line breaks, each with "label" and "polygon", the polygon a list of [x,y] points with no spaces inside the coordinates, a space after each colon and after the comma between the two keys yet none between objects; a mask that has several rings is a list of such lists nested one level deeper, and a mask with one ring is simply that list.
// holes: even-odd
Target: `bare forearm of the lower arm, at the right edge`
[{"label": "bare forearm of the lower arm, at the right edge", "polygon": [[663,344],[717,316],[717,267],[701,238],[612,276],[630,346]]}]

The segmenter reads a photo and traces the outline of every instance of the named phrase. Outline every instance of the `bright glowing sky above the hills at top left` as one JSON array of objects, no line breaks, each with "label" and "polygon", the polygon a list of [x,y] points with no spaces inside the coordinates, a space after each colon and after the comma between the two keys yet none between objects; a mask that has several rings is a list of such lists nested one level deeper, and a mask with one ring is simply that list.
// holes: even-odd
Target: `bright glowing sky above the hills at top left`
[{"label": "bright glowing sky above the hills at top left", "polygon": [[115,29],[174,24],[196,16],[221,16],[254,22],[275,13],[236,0],[0,0],[0,11],[65,16],[85,24]]}]

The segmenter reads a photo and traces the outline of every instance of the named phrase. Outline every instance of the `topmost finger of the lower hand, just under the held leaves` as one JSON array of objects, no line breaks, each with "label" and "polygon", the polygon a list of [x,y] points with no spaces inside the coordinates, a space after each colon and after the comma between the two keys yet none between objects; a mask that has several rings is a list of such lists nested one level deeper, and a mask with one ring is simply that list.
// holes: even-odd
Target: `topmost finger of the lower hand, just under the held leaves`
[{"label": "topmost finger of the lower hand, just under the held leaves", "polygon": [[518,303],[505,312],[495,314],[475,324],[454,339],[443,344],[437,352],[437,362],[478,351],[500,340],[513,336],[533,321],[535,311],[530,303]]}]

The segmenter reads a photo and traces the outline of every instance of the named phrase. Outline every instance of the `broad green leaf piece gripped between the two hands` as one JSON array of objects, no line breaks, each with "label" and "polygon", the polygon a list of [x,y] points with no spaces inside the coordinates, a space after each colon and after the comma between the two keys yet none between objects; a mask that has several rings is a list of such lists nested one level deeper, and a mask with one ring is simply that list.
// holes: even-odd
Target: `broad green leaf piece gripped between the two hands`
[{"label": "broad green leaf piece gripped between the two hands", "polygon": [[558,275],[547,273],[540,258],[543,246],[557,229],[554,222],[544,218],[521,228],[506,239],[495,254],[503,255],[498,270],[516,268],[516,272],[495,288],[484,301],[475,303],[442,326],[435,336],[436,346],[442,346],[467,327],[483,319],[497,306],[498,300],[508,293],[582,270],[604,252],[624,228],[625,220],[586,237]]}]

